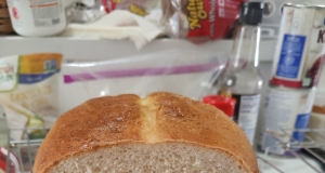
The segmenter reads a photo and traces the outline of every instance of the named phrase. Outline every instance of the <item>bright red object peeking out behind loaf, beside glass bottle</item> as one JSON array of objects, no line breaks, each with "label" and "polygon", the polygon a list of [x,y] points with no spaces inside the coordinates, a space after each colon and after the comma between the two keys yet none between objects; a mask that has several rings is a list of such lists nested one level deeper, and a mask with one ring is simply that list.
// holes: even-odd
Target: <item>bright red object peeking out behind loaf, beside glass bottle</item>
[{"label": "bright red object peeking out behind loaf, beside glass bottle", "polygon": [[231,118],[234,117],[236,99],[221,95],[209,95],[204,97],[203,102],[217,107]]}]

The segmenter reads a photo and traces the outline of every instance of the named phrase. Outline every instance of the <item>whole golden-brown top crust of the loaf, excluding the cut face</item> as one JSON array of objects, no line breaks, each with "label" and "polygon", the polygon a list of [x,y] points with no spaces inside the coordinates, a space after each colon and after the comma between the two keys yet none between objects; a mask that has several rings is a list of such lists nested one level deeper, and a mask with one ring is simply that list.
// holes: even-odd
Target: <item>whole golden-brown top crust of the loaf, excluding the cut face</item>
[{"label": "whole golden-brown top crust of the loaf, excluding the cut face", "polygon": [[182,142],[222,149],[258,172],[245,133],[217,108],[171,93],[141,99],[119,95],[86,102],[58,118],[39,148],[34,172],[99,148],[134,143]]}]

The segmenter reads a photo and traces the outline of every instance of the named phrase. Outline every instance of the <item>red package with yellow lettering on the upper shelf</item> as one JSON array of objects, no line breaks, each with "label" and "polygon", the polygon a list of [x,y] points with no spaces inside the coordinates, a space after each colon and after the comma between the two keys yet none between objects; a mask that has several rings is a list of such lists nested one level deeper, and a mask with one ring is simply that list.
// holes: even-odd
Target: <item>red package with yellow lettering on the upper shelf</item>
[{"label": "red package with yellow lettering on the upper shelf", "polygon": [[193,41],[225,38],[244,1],[247,0],[164,0],[162,23],[172,38]]}]

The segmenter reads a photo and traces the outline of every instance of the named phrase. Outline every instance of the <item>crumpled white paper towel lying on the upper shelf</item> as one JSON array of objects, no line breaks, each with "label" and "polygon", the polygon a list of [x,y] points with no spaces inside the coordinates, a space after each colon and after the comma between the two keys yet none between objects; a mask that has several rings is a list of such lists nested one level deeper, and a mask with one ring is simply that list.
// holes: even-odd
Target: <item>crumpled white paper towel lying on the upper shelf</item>
[{"label": "crumpled white paper towel lying on the upper shelf", "polygon": [[136,49],[162,34],[162,27],[155,23],[162,12],[142,17],[128,11],[116,10],[91,24],[70,24],[62,36],[122,40],[131,39]]}]

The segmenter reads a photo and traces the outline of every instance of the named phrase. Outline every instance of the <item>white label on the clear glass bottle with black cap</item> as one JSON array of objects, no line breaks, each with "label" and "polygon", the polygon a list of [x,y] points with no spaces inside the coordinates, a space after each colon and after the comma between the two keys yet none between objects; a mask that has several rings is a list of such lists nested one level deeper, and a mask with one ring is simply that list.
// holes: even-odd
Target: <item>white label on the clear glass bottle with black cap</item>
[{"label": "white label on the clear glass bottle with black cap", "polygon": [[233,95],[237,101],[234,120],[253,144],[261,95]]}]

